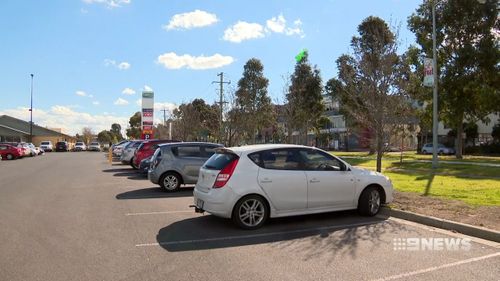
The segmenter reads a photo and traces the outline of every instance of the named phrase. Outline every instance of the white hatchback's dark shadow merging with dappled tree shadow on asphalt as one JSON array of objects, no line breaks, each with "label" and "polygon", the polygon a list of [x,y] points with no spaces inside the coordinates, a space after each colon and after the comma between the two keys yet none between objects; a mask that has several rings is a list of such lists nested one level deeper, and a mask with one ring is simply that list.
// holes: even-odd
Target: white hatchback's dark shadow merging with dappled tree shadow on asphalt
[{"label": "white hatchback's dark shadow merging with dappled tree shadow on asphalt", "polygon": [[[356,211],[270,219],[261,229],[246,231],[237,228],[229,219],[204,215],[174,222],[159,230],[156,240],[170,252],[196,251],[273,243],[271,247],[298,250],[308,256],[357,254],[362,241],[373,245],[384,243],[392,247],[392,239],[384,241],[384,234],[406,230],[401,224],[387,221],[387,217],[362,217]],[[312,243],[299,238],[310,237]]]}]

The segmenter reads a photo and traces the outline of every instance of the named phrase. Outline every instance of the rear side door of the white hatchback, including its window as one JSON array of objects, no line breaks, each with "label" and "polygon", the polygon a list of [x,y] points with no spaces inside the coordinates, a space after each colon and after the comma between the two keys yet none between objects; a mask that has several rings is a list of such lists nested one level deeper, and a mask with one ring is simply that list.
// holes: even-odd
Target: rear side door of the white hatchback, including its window
[{"label": "rear side door of the white hatchback, including its window", "polygon": [[278,212],[307,208],[306,175],[297,149],[268,150],[252,156],[250,159],[260,166],[257,181]]}]

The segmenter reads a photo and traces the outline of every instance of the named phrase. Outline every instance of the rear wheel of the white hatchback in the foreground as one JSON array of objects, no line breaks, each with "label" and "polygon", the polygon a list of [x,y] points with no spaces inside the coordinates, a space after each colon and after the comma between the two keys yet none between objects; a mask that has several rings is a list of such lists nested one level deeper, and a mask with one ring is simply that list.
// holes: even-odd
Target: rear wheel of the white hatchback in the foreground
[{"label": "rear wheel of the white hatchback in the foreground", "polygon": [[233,222],[243,229],[257,229],[269,217],[269,207],[264,198],[258,195],[243,197],[233,209]]}]

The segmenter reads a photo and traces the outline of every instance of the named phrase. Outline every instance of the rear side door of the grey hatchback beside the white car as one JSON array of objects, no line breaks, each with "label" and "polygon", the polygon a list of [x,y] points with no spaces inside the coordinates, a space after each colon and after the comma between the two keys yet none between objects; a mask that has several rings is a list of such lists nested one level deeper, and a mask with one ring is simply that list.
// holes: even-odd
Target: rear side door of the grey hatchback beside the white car
[{"label": "rear side door of the grey hatchback beside the white car", "polygon": [[174,165],[180,170],[184,183],[196,183],[200,167],[207,160],[202,155],[201,145],[172,147],[172,154],[177,158]]}]

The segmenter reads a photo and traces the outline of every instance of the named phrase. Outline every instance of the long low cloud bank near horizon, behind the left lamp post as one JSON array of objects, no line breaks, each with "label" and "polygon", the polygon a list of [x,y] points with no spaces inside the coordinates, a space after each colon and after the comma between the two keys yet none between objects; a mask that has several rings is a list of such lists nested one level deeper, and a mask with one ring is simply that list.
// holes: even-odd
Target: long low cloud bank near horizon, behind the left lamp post
[{"label": "long low cloud bank near horizon, behind the left lamp post", "polygon": [[[0,115],[6,114],[22,120],[28,118],[28,108],[18,107],[0,111]],[[132,115],[132,113],[130,114]],[[36,125],[49,128],[62,128],[70,135],[81,133],[83,127],[90,127],[94,133],[109,130],[111,124],[118,123],[122,128],[127,128],[129,117],[104,114],[90,114],[78,112],[64,105],[52,106],[49,110],[33,109],[33,121]]]}]

